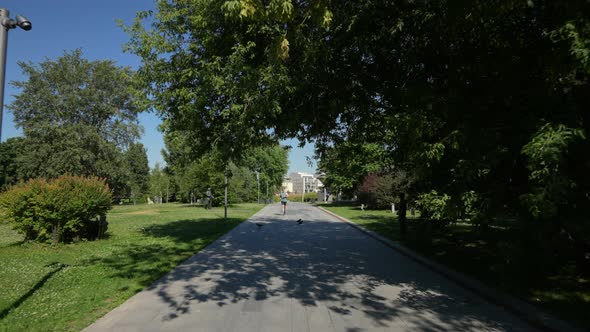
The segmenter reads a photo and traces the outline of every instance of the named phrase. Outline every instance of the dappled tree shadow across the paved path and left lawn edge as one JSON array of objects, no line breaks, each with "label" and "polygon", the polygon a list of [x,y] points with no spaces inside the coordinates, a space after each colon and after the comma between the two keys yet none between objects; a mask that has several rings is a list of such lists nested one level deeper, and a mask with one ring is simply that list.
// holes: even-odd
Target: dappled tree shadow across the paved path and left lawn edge
[{"label": "dappled tree shadow across the paved path and left lawn edge", "polygon": [[[525,329],[514,325],[513,318],[505,320],[501,309],[344,223],[329,221],[326,215],[314,217],[306,210],[286,217],[272,212],[242,223],[151,285],[148,290],[169,308],[161,319],[191,314],[199,303],[224,308],[291,299],[308,308],[324,306],[335,319],[352,322],[360,315],[366,322],[348,326],[348,331],[393,326],[419,331]],[[298,218],[304,219],[302,225],[295,223]],[[189,234],[189,222],[195,221],[143,230],[149,236],[174,238],[178,248],[130,246],[120,255],[128,258],[104,263],[119,276],[161,271],[157,264],[167,262],[155,259],[158,263],[151,267],[134,265],[134,257],[139,261],[146,255],[155,258],[161,250],[184,250],[182,243],[195,236]]]}]

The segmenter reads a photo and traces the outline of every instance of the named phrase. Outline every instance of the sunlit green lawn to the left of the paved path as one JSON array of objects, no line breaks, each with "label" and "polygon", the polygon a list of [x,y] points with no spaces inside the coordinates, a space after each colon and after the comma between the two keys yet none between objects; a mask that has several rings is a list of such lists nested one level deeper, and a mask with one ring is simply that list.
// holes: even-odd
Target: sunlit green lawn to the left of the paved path
[{"label": "sunlit green lawn to the left of the paved path", "polygon": [[79,331],[260,208],[116,206],[106,239],[55,247],[0,223],[0,331]]}]

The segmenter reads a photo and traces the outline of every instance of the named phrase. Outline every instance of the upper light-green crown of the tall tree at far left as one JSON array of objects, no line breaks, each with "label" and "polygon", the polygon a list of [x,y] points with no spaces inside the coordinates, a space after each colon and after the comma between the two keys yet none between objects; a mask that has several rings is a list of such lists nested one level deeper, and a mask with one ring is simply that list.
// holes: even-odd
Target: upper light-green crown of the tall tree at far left
[{"label": "upper light-green crown of the tall tree at far left", "polygon": [[117,146],[139,136],[129,68],[109,60],[86,60],[80,50],[39,65],[19,65],[28,80],[11,82],[21,90],[9,105],[17,127],[28,131],[49,125],[93,126],[100,137]]}]

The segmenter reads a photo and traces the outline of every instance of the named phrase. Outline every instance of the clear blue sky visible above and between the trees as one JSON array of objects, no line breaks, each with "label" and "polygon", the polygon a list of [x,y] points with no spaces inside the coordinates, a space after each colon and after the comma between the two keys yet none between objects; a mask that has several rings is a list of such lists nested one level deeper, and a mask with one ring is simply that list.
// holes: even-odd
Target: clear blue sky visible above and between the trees
[{"label": "clear blue sky visible above and between the trees", "polygon": [[[119,66],[137,68],[139,58],[122,50],[128,36],[117,26],[116,20],[130,24],[136,12],[154,9],[153,3],[152,0],[3,0],[0,8],[8,9],[11,18],[23,15],[33,24],[31,31],[16,28],[8,32],[4,104],[10,104],[12,96],[18,93],[8,82],[25,79],[18,66],[20,61],[40,63],[59,57],[64,51],[80,48],[87,59],[110,59]],[[3,141],[21,135],[12,119],[5,107]],[[139,119],[145,130],[141,141],[148,150],[150,166],[163,162],[160,151],[164,143],[157,130],[160,119],[151,113],[141,114]],[[313,156],[313,145],[297,148],[296,140],[283,143],[293,146],[289,172],[315,170],[315,166],[309,167],[305,159]]]}]

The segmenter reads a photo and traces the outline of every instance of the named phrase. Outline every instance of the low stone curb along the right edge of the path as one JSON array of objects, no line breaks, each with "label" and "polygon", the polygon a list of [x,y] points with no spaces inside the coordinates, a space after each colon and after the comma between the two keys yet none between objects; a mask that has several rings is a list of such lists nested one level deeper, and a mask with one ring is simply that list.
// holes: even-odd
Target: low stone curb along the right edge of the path
[{"label": "low stone curb along the right edge of the path", "polygon": [[473,293],[483,297],[487,301],[499,305],[504,309],[508,310],[512,314],[515,314],[519,318],[525,320],[527,323],[539,328],[543,331],[548,332],[583,332],[584,330],[574,327],[567,322],[564,322],[552,315],[541,311],[541,309],[524,302],[523,300],[517,299],[511,295],[501,293],[498,290],[492,289],[491,287],[477,281],[471,277],[454,271],[442,264],[439,264],[425,256],[418,254],[417,252],[401,245],[399,242],[389,240],[376,232],[370,231],[363,226],[356,224],[332,211],[324,209],[321,206],[316,206],[325,213],[335,217],[336,219],[348,224],[349,226],[357,229],[358,231],[365,233],[366,235],[374,238],[375,240],[383,243],[393,250],[398,251],[404,256],[412,259],[413,261],[426,266],[428,269],[444,276],[451,280],[460,287],[466,288]]}]

